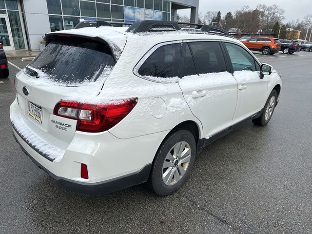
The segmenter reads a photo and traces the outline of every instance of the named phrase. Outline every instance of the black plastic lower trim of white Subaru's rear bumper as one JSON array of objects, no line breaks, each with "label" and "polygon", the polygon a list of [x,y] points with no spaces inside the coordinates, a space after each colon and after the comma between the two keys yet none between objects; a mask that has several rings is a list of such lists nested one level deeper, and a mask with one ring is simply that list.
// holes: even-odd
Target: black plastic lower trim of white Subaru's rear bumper
[{"label": "black plastic lower trim of white Subaru's rear bumper", "polygon": [[147,164],[144,166],[141,170],[125,175],[125,176],[119,176],[117,178],[105,180],[103,182],[97,182],[97,183],[85,183],[80,181],[75,181],[71,179],[67,179],[61,176],[56,176],[52,172],[50,172],[48,169],[46,169],[44,166],[42,166],[37,160],[35,160],[34,157],[32,157],[28,152],[24,149],[24,147],[20,144],[20,141],[15,136],[15,130],[13,130],[13,137],[15,138],[16,142],[20,145],[21,150],[30,157],[30,159],[43,171],[45,171],[49,176],[54,178],[59,182],[60,185],[62,185],[65,189],[68,191],[76,192],[78,194],[83,195],[103,195],[108,194],[112,192],[116,192],[121,189],[125,189],[137,184],[141,184],[147,181],[152,163]]}]

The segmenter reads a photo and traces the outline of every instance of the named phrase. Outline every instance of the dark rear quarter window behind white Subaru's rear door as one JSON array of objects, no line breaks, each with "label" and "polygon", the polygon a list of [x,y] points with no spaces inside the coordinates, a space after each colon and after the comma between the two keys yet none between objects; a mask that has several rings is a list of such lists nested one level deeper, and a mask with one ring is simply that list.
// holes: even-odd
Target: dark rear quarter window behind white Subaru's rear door
[{"label": "dark rear quarter window behind white Subaru's rear door", "polygon": [[163,45],[157,48],[138,69],[141,76],[177,77],[181,57],[181,43]]}]

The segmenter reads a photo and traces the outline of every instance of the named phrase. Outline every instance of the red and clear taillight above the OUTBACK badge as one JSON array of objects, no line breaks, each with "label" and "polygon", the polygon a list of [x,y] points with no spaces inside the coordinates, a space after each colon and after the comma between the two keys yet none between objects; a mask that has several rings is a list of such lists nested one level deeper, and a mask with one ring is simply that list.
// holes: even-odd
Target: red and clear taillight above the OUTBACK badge
[{"label": "red and clear taillight above the OUTBACK badge", "polygon": [[54,107],[56,116],[77,120],[77,130],[98,133],[114,127],[136,106],[138,98],[121,100],[113,104],[87,104],[60,100]]}]

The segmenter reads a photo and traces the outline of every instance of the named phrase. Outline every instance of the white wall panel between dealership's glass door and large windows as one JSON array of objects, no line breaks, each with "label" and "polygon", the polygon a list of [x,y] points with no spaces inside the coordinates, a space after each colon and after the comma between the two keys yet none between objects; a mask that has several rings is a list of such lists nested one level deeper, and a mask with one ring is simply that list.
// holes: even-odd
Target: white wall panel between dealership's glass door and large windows
[{"label": "white wall panel between dealership's glass door and large windows", "polygon": [[42,36],[50,32],[46,0],[23,0],[24,17],[30,50],[39,50]]}]

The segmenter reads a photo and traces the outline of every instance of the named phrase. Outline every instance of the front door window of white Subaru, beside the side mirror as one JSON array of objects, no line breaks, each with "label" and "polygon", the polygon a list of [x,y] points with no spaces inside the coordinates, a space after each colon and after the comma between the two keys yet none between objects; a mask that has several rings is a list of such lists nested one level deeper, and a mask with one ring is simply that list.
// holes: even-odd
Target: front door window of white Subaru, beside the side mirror
[{"label": "front door window of white Subaru, beside the side mirror", "polygon": [[242,47],[225,43],[234,71],[257,71],[254,58]]}]

